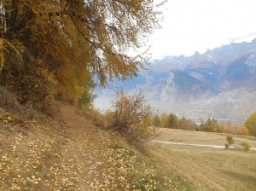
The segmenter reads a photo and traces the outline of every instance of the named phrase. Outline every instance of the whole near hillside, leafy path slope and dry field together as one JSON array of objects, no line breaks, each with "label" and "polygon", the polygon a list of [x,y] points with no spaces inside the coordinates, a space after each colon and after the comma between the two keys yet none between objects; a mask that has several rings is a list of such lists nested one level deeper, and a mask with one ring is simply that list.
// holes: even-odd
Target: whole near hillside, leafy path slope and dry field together
[{"label": "whole near hillside, leafy path slope and dry field together", "polygon": [[[132,145],[102,128],[102,119],[56,102],[55,119],[34,110],[0,109],[1,190],[253,190],[255,151],[224,145],[225,135],[161,129]],[[192,137],[192,138],[191,138]],[[234,136],[235,144],[253,136]]]}]

